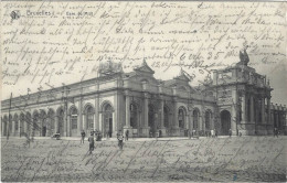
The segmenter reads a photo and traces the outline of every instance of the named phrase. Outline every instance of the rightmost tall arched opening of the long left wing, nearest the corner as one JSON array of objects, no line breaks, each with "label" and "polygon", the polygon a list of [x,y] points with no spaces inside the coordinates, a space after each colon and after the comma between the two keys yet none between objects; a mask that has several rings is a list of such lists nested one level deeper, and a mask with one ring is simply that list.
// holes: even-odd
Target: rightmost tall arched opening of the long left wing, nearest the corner
[{"label": "rightmost tall arched opening of the long left wing, nearest the corner", "polygon": [[113,136],[113,107],[109,104],[104,106],[104,137]]}]

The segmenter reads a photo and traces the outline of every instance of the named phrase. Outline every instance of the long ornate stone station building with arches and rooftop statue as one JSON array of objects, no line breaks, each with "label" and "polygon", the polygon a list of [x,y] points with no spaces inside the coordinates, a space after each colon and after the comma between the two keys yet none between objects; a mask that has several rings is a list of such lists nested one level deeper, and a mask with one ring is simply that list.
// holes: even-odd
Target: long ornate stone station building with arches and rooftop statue
[{"label": "long ornate stone station building with arches and rooftop statue", "polygon": [[[153,77],[146,61],[130,73],[107,62],[95,78],[2,100],[2,136],[78,137],[94,130],[116,137],[183,137],[212,129],[225,136],[286,133],[286,106],[270,103],[266,76],[247,66],[241,52],[235,66],[213,71],[213,78],[192,87],[181,69],[172,79]],[[245,57],[244,57],[245,56]],[[11,104],[10,104],[11,101]]]}]

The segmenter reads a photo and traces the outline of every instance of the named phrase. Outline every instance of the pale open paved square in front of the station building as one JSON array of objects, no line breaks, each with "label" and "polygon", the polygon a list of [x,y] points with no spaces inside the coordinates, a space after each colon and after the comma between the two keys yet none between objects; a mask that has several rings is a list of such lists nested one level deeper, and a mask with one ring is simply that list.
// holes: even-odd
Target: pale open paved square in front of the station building
[{"label": "pale open paved square in front of the station building", "polygon": [[2,181],[286,181],[286,137],[130,139],[1,139]]}]

